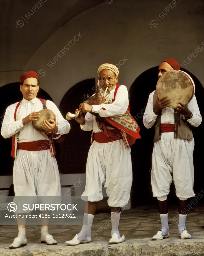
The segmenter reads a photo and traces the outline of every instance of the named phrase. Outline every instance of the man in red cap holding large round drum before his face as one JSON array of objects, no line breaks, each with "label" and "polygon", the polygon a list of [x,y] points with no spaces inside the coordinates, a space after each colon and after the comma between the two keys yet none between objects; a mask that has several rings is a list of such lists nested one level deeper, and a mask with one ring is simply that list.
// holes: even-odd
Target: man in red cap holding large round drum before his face
[{"label": "man in red cap holding large round drum before his face", "polygon": [[[173,59],[166,59],[159,66],[158,77],[173,70],[180,70],[179,64]],[[179,103],[180,106],[175,110],[168,108],[169,103],[167,98],[158,100],[156,91],[150,93],[143,117],[143,123],[147,129],[155,126],[151,186],[153,196],[158,200],[162,226],[152,238],[153,240],[162,240],[169,236],[167,195],[172,183],[171,174],[173,174],[176,196],[179,199],[179,235],[181,239],[191,239],[186,231],[187,212],[184,210],[187,199],[195,196],[193,191],[194,139],[193,135],[189,138],[189,134],[192,134],[189,124],[197,127],[202,118],[195,95],[187,105]],[[175,132],[174,126],[177,127]]]}]

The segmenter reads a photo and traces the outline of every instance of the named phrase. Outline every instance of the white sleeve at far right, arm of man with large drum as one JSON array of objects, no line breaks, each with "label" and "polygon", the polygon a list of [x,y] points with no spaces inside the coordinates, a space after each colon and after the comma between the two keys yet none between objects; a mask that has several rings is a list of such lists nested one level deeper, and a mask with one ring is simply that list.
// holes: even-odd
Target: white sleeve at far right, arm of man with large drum
[{"label": "white sleeve at far right, arm of man with large drum", "polygon": [[192,112],[193,116],[190,119],[187,119],[189,124],[198,127],[201,124],[202,117],[198,108],[197,100],[194,95],[193,99],[188,103],[187,108]]}]

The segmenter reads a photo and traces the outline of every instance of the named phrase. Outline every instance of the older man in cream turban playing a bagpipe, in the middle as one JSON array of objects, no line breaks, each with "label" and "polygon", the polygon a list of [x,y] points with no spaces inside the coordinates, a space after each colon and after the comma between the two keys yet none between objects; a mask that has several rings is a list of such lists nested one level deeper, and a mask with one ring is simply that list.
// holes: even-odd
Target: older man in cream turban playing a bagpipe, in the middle
[{"label": "older man in cream turban playing a bagpipe, in the middle", "polygon": [[[91,226],[98,201],[103,199],[102,187],[106,188],[108,205],[111,207],[111,236],[109,243],[121,243],[118,225],[119,208],[124,207],[130,198],[132,185],[132,165],[130,146],[140,138],[139,127],[129,113],[127,88],[117,84],[118,68],[112,64],[103,64],[98,68],[102,88],[101,95],[107,89],[104,103],[80,105],[82,110],[75,120],[83,131],[93,131],[94,141],[88,153],[86,164],[86,187],[82,197],[88,199],[88,214],[84,214],[87,225],[68,245],[77,245],[92,241]],[[98,82],[99,86],[99,82]],[[75,114],[79,113],[77,109]],[[82,114],[86,112],[86,116]]]}]

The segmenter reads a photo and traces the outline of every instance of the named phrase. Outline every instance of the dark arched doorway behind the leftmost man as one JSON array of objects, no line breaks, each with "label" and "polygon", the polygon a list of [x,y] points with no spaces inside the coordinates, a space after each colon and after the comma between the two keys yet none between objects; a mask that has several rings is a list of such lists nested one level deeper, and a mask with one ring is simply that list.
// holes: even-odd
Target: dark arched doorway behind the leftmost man
[{"label": "dark arched doorway behind the leftmost man", "polygon": [[[22,93],[20,91],[20,83],[10,83],[0,88],[1,102],[0,102],[0,129],[2,128],[2,122],[4,114],[9,105],[22,100]],[[37,98],[53,101],[52,98],[41,88],[37,94]],[[4,139],[0,136],[1,145],[1,171],[0,175],[12,175],[14,158],[11,157],[11,142],[12,138]],[[59,146],[56,144],[56,159],[59,165]]]}]

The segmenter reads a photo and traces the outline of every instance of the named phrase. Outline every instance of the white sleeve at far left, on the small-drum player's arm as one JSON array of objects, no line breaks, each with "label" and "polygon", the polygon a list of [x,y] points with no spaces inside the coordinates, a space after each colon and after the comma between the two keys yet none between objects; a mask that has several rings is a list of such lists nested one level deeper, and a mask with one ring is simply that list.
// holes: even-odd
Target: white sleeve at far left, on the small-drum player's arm
[{"label": "white sleeve at far left, on the small-drum player's arm", "polygon": [[1,135],[5,139],[8,139],[8,138],[12,137],[13,135],[15,135],[23,127],[22,120],[18,120],[15,122],[14,112],[15,112],[15,109],[12,105],[6,109],[6,113],[4,115],[4,120],[2,123],[2,129],[1,129]]}]

